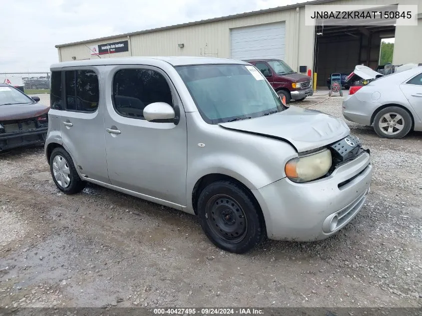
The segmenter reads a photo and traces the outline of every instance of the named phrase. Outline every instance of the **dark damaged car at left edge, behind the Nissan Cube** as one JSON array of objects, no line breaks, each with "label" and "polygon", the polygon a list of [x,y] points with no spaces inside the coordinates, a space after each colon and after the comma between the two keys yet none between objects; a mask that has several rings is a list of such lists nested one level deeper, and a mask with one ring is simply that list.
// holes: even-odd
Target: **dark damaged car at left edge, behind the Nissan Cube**
[{"label": "dark damaged car at left edge, behind the Nissan Cube", "polygon": [[49,107],[38,101],[37,96],[0,83],[0,151],[44,143]]}]

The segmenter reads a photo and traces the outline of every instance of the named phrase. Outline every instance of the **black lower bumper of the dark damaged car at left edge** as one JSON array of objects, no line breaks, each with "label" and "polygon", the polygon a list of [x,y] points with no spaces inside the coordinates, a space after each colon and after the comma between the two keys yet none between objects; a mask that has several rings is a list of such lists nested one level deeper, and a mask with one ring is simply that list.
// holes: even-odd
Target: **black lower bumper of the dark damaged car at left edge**
[{"label": "black lower bumper of the dark damaged car at left edge", "polygon": [[45,141],[48,127],[34,128],[19,132],[0,134],[0,151],[21,146],[42,144]]}]

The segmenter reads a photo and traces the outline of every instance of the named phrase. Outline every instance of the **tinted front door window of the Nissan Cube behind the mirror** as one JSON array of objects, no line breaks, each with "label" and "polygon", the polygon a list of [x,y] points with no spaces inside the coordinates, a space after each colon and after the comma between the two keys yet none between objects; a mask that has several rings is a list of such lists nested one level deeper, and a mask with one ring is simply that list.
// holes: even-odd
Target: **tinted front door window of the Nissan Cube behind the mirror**
[{"label": "tinted front door window of the Nissan Cube behind the mirror", "polygon": [[173,105],[170,87],[164,76],[151,69],[122,69],[113,80],[116,111],[132,118],[144,119],[145,106],[154,102]]}]

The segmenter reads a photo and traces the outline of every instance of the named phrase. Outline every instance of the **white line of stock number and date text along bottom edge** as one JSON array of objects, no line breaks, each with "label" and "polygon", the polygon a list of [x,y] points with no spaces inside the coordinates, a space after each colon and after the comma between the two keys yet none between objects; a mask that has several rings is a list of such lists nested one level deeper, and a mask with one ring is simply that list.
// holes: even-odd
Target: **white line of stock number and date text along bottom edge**
[{"label": "white line of stock number and date text along bottom edge", "polygon": [[261,309],[250,308],[185,308],[185,309],[154,309],[155,315],[260,315]]}]

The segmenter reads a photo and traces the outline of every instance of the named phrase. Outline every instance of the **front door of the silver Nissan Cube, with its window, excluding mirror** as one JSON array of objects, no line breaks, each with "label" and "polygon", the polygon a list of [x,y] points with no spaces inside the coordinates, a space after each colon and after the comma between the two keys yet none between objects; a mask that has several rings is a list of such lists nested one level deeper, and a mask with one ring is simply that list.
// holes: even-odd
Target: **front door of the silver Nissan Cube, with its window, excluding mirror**
[{"label": "front door of the silver Nissan Cube, with its window, excluding mirror", "polygon": [[[104,134],[111,184],[186,205],[186,118],[173,86],[153,67],[110,67]],[[143,119],[143,108],[158,101],[179,106],[177,125]]]}]

